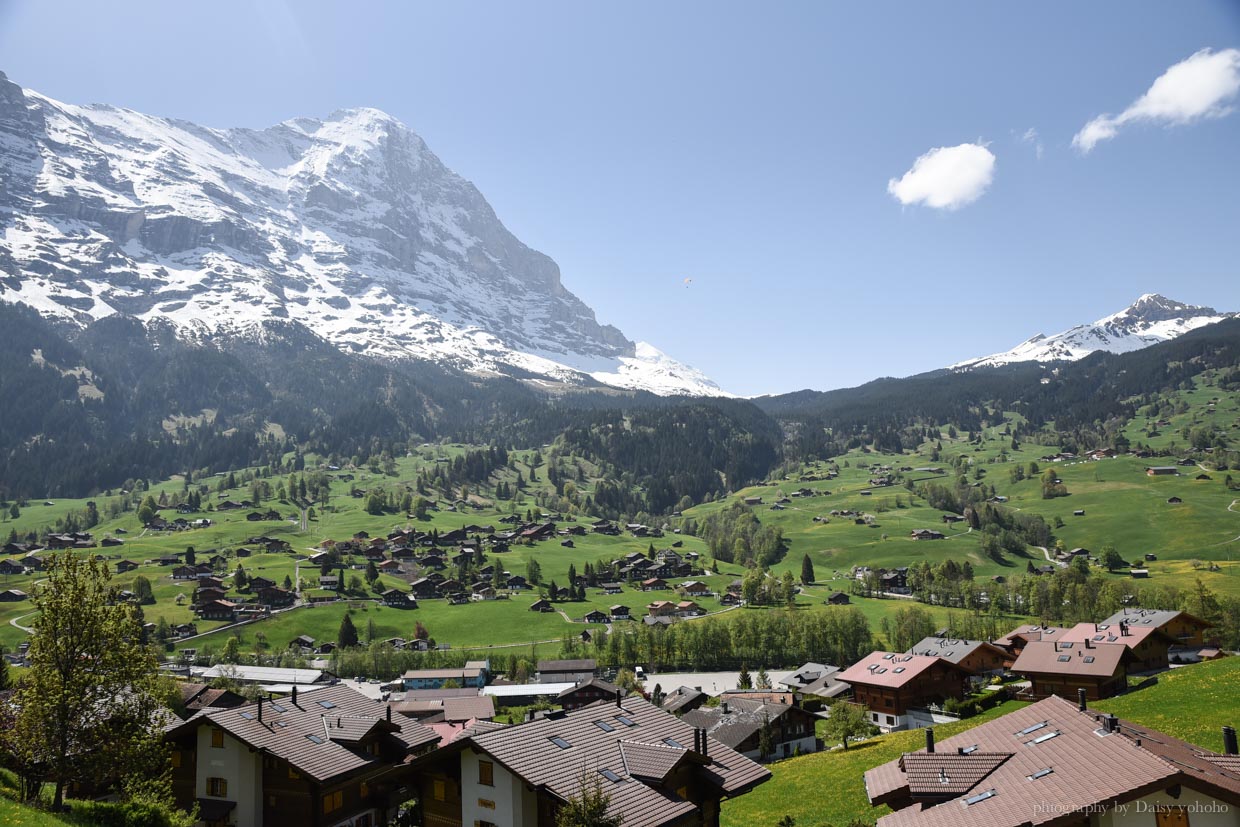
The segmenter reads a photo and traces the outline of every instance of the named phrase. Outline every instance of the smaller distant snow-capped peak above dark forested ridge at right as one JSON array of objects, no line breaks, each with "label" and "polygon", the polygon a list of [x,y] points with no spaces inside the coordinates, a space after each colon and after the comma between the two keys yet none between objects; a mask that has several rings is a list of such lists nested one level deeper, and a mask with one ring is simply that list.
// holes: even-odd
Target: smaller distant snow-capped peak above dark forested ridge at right
[{"label": "smaller distant snow-capped peak above dark forested ridge at right", "polygon": [[1236,315],[1147,293],[1120,312],[1099,319],[1091,325],[1078,325],[1053,336],[1038,334],[1009,351],[957,362],[951,369],[967,371],[1012,362],[1075,361],[1094,351],[1127,353]]}]

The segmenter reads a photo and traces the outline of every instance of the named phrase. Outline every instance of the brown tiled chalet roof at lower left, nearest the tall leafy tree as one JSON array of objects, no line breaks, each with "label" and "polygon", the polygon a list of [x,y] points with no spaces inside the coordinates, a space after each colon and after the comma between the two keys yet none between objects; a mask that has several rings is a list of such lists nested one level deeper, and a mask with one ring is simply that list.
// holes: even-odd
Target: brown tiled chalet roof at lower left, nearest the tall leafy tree
[{"label": "brown tiled chalet roof at lower left, nearest the tall leafy tree", "polygon": [[263,702],[263,720],[258,720],[258,704],[249,703],[236,709],[205,710],[171,727],[169,734],[210,723],[252,749],[284,759],[299,772],[326,781],[381,760],[350,746],[376,727],[388,730],[381,738],[394,739],[393,745],[405,751],[439,740],[439,735],[408,719],[388,724],[387,709],[387,704],[339,684],[303,694],[296,705],[290,698]]}]

